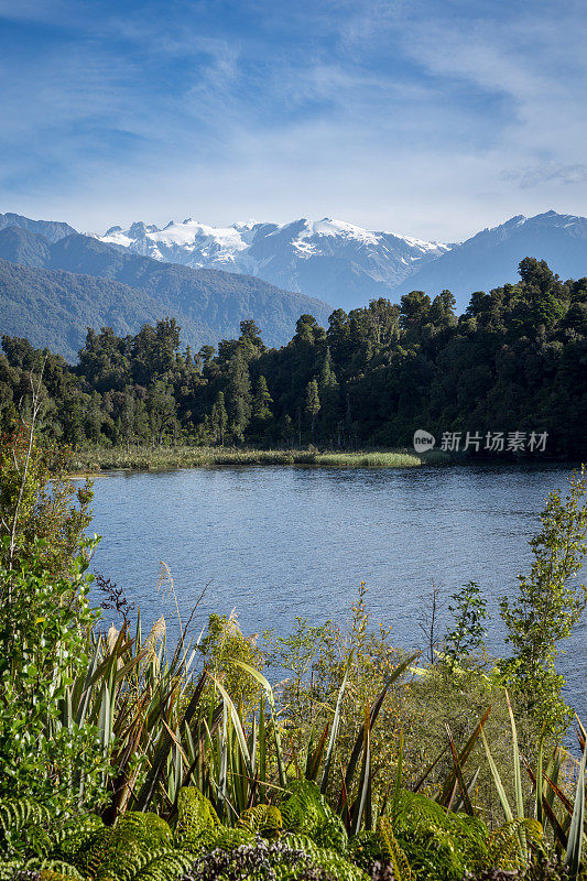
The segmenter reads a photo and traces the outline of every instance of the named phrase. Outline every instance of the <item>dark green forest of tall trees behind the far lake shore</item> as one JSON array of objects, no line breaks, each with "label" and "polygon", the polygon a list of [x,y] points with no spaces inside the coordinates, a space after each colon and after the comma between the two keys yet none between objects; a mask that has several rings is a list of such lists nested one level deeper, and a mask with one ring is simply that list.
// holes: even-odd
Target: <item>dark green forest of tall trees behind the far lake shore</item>
[{"label": "dark green forest of tall trees behind the far lake shore", "polygon": [[[42,431],[74,445],[253,443],[403,446],[414,431],[544,433],[546,454],[587,453],[587,279],[562,282],[525,259],[520,281],[454,297],[414,291],[328,328],[300,317],[267,349],[254,322],[216,352],[180,347],[174,320],[137,336],[89,331],[79,363],[47,358]],[[7,427],[42,352],[3,337],[0,418]]]}]

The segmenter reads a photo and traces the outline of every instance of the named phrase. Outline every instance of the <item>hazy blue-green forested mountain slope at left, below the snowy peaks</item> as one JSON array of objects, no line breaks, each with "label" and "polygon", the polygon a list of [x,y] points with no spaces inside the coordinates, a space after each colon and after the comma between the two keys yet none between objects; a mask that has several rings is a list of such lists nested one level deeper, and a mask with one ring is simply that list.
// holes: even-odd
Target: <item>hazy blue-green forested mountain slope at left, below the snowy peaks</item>
[{"label": "hazy blue-green forested mountain slope at left, below the snowy peaks", "polygon": [[[182,342],[199,348],[238,334],[240,322],[253,317],[276,346],[290,338],[302,313],[325,323],[331,311],[319,300],[250,275],[162,263],[76,232],[50,241],[31,229],[6,226],[0,259],[21,268],[9,272],[4,265],[0,275],[2,331],[50,345],[70,360],[88,326],[137,333],[144,322],[169,315],[182,327]],[[73,273],[69,279],[64,271]],[[12,283],[3,282],[8,275],[18,280],[17,301]]]}]

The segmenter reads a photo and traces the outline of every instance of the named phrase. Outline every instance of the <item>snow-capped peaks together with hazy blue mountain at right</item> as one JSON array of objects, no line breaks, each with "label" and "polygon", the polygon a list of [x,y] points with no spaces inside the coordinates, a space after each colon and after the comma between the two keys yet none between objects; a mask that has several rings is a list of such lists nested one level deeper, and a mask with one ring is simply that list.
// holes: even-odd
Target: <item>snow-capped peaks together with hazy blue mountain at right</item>
[{"label": "snow-capped peaks together with hazy blue mountain at right", "polygon": [[163,229],[137,222],[126,230],[111,227],[101,240],[155,260],[248,272],[345,309],[378,296],[449,289],[463,312],[474,291],[514,281],[524,257],[546,260],[564,278],[587,275],[587,219],[555,211],[520,215],[452,244],[329,218],[229,227],[187,219]]}]

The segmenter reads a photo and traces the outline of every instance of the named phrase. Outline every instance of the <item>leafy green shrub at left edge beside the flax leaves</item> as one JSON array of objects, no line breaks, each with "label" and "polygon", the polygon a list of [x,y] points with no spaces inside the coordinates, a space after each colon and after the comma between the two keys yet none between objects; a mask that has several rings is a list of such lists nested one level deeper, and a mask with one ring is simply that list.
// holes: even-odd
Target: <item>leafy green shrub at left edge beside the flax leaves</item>
[{"label": "leafy green shrub at left edge beside the flax leaves", "polygon": [[[56,813],[104,798],[109,755],[67,707],[97,613],[88,605],[89,487],[48,487],[33,426],[0,447],[0,797],[28,795]],[[79,554],[79,556],[76,556]]]}]

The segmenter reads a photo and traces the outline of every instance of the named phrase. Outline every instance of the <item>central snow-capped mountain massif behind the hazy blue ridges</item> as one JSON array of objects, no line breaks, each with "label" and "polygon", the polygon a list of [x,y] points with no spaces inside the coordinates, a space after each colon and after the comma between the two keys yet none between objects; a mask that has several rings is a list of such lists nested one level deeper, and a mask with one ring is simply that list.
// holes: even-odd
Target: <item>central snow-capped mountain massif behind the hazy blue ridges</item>
[{"label": "central snow-capped mountain massif behind the hazy blue ridges", "polygon": [[389,295],[450,248],[327,217],[229,227],[189,218],[163,229],[137,222],[126,230],[111,227],[99,238],[155,260],[257,275],[289,291],[319,294],[347,309]]}]

